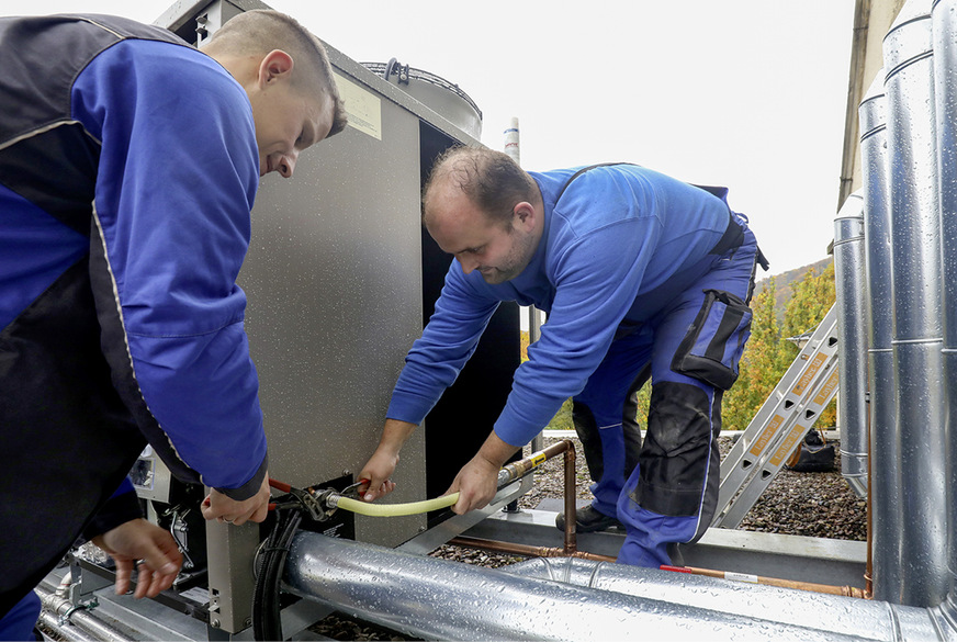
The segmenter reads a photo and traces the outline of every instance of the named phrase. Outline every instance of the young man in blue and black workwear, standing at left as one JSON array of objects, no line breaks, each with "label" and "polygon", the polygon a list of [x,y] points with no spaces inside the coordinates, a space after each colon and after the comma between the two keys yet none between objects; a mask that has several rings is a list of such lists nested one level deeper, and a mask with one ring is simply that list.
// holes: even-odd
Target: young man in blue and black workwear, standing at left
[{"label": "young man in blue and black workwear, standing at left", "polygon": [[0,616],[81,534],[117,590],[140,559],[156,595],[180,557],[124,482],[147,442],[213,488],[206,519],[267,515],[236,277],[260,177],[345,126],[331,67],[272,11],[203,53],[115,16],[4,18],[0,66]]}]

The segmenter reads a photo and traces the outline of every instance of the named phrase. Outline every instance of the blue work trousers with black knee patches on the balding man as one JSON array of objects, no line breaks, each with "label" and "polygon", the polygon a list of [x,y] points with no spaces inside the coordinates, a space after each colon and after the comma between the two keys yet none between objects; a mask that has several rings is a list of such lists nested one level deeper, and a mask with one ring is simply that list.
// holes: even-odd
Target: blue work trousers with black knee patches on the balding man
[{"label": "blue work trousers with black knee patches on the balding man", "polygon": [[[573,399],[577,418],[592,420],[600,449],[593,506],[617,516],[627,530],[621,563],[671,564],[669,544],[697,541],[713,517],[721,396],[736,379],[750,336],[746,303],[758,252],[754,235],[742,227],[740,246],[710,259],[674,299],[611,343]],[[635,464],[622,413],[649,364],[651,407]],[[583,432],[578,421],[576,428]]]}]

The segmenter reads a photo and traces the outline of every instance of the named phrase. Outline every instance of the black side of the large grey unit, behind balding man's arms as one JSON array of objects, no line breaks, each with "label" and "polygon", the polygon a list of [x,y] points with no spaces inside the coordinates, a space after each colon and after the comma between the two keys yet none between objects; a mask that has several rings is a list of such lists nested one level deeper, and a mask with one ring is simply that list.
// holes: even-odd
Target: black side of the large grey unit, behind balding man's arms
[{"label": "black side of the large grey unit, behind balding man's arms", "polygon": [[[425,122],[419,138],[425,184],[436,158],[457,142]],[[439,249],[423,227],[423,324],[432,315],[451,262],[452,257]],[[485,441],[511,391],[520,350],[519,307],[515,303],[503,303],[488,322],[475,353],[459,379],[426,417],[426,488],[429,497],[444,493],[459,470]],[[518,454],[514,459],[518,459]],[[447,516],[448,511],[434,514],[430,521]]]}]

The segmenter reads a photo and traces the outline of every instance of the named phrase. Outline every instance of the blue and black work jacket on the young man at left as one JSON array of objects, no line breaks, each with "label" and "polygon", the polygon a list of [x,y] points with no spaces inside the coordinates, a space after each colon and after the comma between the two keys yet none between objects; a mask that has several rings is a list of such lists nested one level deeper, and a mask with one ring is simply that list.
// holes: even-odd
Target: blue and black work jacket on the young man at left
[{"label": "blue and black work jacket on the young man at left", "polygon": [[[246,92],[166,30],[11,24],[4,44],[22,42],[0,86],[0,328],[37,301],[95,315],[116,390],[173,472],[246,498],[267,453],[236,285],[259,184]],[[53,300],[85,260],[97,308]]]}]

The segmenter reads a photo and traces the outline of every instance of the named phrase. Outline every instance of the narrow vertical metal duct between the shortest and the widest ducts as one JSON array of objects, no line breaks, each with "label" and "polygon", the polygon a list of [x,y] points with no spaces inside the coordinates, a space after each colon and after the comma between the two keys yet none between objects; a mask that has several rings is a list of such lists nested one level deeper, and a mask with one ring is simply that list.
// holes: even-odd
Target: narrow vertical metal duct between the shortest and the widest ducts
[{"label": "narrow vertical metal duct between the shortest and the widest ducts", "polygon": [[900,595],[902,488],[893,371],[893,280],[887,153],[887,99],[881,69],[860,102],[864,238],[867,266],[870,390],[870,517],[875,599]]}]

